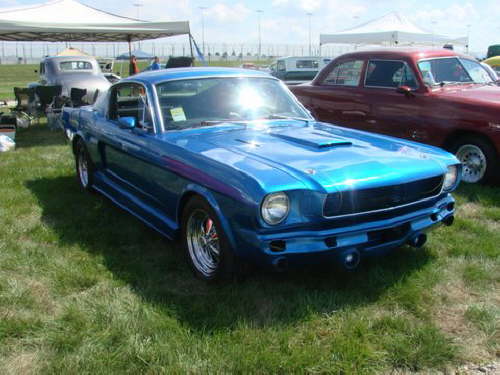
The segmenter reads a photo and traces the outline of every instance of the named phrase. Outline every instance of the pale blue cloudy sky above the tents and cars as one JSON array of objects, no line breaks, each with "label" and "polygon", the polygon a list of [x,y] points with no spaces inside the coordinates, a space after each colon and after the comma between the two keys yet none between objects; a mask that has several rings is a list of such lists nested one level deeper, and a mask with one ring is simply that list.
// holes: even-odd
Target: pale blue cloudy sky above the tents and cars
[{"label": "pale blue cloudy sky above the tents and cars", "polygon": [[[0,7],[29,5],[43,0],[0,0]],[[263,44],[307,44],[307,13],[312,13],[311,35],[354,27],[398,11],[417,25],[437,34],[466,36],[470,25],[470,50],[485,53],[500,42],[500,0],[81,0],[115,14],[154,20],[189,20],[201,44],[202,12],[205,41],[246,44],[258,41],[257,10],[262,10]],[[142,3],[141,7],[133,4]],[[201,10],[200,7],[206,7]]]}]

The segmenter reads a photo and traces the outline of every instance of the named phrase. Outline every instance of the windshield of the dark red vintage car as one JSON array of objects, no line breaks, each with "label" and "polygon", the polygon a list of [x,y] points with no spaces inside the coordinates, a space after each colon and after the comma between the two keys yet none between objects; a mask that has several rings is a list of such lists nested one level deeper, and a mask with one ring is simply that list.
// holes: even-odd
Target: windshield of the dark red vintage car
[{"label": "windshield of the dark red vintage car", "polygon": [[418,62],[418,68],[427,85],[447,83],[491,83],[488,72],[477,61],[450,57]]}]

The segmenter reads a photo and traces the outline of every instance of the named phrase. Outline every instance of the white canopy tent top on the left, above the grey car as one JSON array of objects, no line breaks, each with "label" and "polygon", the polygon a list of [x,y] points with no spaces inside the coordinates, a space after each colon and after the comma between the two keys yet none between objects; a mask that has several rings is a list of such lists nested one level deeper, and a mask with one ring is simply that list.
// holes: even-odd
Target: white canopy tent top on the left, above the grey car
[{"label": "white canopy tent top on the left, above the grey car", "polygon": [[189,22],[148,22],[117,16],[75,0],[0,8],[0,40],[133,42],[190,34]]}]

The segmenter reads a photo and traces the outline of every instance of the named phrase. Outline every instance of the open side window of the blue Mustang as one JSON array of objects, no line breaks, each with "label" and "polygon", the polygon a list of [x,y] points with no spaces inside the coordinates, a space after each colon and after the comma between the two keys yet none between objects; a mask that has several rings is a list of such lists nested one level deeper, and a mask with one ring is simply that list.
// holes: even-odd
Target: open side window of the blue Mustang
[{"label": "open side window of the blue Mustang", "polygon": [[130,83],[115,87],[110,98],[109,117],[111,120],[134,117],[137,128],[152,130],[153,122],[144,86]]}]

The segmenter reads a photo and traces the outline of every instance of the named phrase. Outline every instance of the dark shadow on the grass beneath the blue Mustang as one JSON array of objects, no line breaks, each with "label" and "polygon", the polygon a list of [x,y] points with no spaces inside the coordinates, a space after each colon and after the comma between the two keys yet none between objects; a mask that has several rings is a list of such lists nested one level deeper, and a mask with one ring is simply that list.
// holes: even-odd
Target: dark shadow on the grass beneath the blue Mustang
[{"label": "dark shadow on the grass beneath the blue Mustang", "polygon": [[203,332],[242,322],[288,324],[311,313],[363,306],[433,261],[428,252],[403,247],[348,275],[328,267],[284,274],[257,271],[243,281],[207,285],[194,278],[178,246],[106,198],[83,193],[74,176],[26,185],[59,245],[78,244],[99,255],[114,277],[142,299]]}]

